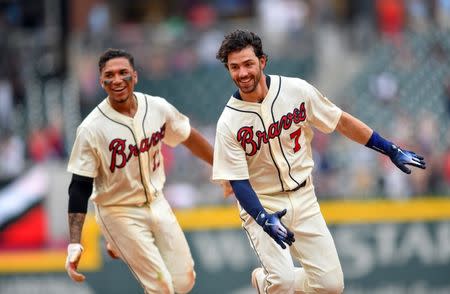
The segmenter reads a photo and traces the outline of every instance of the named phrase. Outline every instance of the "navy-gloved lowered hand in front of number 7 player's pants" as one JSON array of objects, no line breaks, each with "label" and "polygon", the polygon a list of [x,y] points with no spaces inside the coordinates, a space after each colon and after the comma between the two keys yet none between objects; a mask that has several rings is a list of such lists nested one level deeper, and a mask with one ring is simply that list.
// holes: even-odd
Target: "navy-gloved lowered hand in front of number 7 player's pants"
[{"label": "navy-gloved lowered hand in front of number 7 player's pants", "polygon": [[262,211],[258,214],[256,222],[263,227],[264,231],[269,234],[281,248],[286,249],[295,242],[294,234],[289,231],[281,222],[281,218],[286,214],[286,209],[275,213],[267,213]]}]

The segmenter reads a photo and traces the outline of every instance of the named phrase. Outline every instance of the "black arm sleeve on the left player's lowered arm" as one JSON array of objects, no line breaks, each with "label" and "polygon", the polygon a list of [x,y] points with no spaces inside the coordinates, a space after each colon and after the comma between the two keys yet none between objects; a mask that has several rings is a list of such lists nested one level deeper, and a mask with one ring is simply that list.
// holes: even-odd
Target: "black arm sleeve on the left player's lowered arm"
[{"label": "black arm sleeve on the left player's lowered arm", "polygon": [[69,213],[86,213],[88,200],[92,194],[93,178],[72,175],[69,185]]}]

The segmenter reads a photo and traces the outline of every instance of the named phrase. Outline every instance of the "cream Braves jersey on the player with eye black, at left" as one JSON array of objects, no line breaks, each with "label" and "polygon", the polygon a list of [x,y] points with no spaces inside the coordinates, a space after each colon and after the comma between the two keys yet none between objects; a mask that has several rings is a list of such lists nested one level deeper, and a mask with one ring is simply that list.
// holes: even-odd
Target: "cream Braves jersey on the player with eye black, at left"
[{"label": "cream Braves jersey on the player with eye black, at left", "polygon": [[161,97],[134,92],[133,118],[103,100],[81,123],[67,170],[94,178],[100,205],[142,205],[165,182],[161,143],[175,146],[190,134],[189,119]]}]

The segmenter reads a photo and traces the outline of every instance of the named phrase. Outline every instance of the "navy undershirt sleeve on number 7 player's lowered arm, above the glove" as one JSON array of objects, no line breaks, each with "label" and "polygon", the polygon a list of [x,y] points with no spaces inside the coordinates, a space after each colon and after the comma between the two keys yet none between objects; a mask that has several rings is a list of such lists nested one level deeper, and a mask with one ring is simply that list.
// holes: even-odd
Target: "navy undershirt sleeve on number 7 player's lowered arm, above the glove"
[{"label": "navy undershirt sleeve on number 7 player's lowered arm, above the glove", "polygon": [[230,184],[239,204],[254,219],[261,211],[265,211],[248,180],[230,181]]}]

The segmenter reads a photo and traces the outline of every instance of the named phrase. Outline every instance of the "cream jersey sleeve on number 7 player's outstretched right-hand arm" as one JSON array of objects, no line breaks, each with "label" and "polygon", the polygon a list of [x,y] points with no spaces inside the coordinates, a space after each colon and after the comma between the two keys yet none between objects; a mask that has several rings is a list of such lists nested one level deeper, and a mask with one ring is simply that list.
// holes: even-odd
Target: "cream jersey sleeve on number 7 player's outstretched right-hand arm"
[{"label": "cream jersey sleeve on number 7 player's outstretched right-hand arm", "polygon": [[307,86],[306,96],[308,97],[309,123],[323,133],[333,132],[342,115],[342,110],[310,84]]}]

